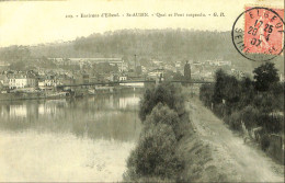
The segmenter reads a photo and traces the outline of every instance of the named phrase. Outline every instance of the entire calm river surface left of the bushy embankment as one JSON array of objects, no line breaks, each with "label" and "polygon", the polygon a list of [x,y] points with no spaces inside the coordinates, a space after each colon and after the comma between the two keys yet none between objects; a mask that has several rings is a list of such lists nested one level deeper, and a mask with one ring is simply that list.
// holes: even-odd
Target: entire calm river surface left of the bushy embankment
[{"label": "entire calm river surface left of the bushy embankment", "polygon": [[140,96],[0,102],[0,182],[122,181]]}]

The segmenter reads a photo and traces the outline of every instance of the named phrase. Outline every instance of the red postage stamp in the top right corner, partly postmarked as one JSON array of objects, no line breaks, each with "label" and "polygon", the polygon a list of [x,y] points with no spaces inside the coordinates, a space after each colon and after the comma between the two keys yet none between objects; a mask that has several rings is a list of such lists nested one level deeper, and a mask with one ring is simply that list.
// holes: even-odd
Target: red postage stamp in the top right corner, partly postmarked
[{"label": "red postage stamp in the top right corner, partly postmarked", "polygon": [[243,53],[278,55],[284,42],[283,9],[246,8]]}]

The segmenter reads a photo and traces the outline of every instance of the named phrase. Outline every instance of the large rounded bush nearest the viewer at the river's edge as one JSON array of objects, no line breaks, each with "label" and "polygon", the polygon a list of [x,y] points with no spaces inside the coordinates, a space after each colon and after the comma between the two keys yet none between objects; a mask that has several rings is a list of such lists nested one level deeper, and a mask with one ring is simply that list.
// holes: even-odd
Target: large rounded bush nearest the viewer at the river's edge
[{"label": "large rounded bush nearest the viewer at the river's edge", "polygon": [[138,145],[127,161],[127,176],[132,181],[139,178],[173,179],[183,168],[176,155],[176,139],[171,126],[150,124],[141,133]]}]

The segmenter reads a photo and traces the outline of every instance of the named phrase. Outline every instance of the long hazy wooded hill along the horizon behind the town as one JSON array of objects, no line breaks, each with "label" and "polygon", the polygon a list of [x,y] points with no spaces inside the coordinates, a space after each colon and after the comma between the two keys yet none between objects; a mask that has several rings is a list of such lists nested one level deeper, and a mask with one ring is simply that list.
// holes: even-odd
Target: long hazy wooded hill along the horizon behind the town
[{"label": "long hazy wooded hill along the horizon behind the town", "polygon": [[[150,58],[173,64],[184,60],[231,60],[244,69],[254,68],[235,49],[230,32],[191,30],[122,30],[78,37],[68,43],[43,44],[33,47],[12,46],[0,49],[1,60],[29,57],[123,57],[144,62]],[[283,57],[274,59],[283,67]],[[258,62],[259,64],[259,62]]]}]

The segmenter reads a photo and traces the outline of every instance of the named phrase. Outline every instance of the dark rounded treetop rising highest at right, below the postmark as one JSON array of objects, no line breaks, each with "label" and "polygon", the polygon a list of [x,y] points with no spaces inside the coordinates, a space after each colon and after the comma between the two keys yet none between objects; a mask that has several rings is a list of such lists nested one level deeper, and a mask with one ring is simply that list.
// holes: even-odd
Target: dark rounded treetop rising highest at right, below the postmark
[{"label": "dark rounded treetop rising highest at right, below the postmark", "polygon": [[264,92],[270,85],[280,81],[277,69],[273,62],[265,62],[253,70],[254,87],[258,91]]}]

